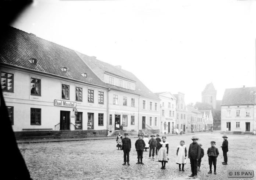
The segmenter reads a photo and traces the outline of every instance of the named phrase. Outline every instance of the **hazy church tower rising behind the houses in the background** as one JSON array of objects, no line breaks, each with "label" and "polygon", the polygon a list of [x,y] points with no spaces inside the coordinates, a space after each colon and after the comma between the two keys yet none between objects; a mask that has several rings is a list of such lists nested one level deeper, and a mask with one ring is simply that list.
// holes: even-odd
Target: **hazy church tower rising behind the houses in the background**
[{"label": "hazy church tower rising behind the houses in the background", "polygon": [[215,90],[212,82],[207,84],[202,92],[202,102],[206,102],[211,105],[213,109],[216,109],[216,95],[217,90]]}]

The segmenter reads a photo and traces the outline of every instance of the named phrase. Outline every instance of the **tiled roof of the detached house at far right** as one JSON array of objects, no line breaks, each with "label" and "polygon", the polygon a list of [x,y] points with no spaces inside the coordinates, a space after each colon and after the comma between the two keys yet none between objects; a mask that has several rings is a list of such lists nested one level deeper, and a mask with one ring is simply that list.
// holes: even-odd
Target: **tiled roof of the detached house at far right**
[{"label": "tiled roof of the detached house at far right", "polygon": [[256,87],[241,87],[226,89],[221,105],[253,105]]}]

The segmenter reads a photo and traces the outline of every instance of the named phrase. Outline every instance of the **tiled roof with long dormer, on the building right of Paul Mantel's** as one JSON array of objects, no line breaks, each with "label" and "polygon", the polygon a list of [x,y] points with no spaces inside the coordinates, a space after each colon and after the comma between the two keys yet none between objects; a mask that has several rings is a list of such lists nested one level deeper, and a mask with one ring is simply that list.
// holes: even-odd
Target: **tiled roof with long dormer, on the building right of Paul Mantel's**
[{"label": "tiled roof with long dormer, on the building right of Paul Mantel's", "polygon": [[[123,70],[119,67],[113,66],[111,64],[100,61],[96,58],[92,58],[90,56],[84,55],[80,52],[76,52],[85,62],[87,62],[88,66],[93,66],[100,68],[106,73],[111,73],[113,75],[117,75],[119,77],[125,78],[127,80],[133,81],[135,83],[135,90],[128,90],[122,87],[114,86],[111,84],[107,84],[107,87],[110,87],[112,90],[120,90],[127,93],[133,93],[141,96],[147,96],[154,99],[159,99],[154,93],[151,92],[133,73]],[[93,69],[92,67],[92,69]],[[159,99],[160,100],[160,99]]]}]

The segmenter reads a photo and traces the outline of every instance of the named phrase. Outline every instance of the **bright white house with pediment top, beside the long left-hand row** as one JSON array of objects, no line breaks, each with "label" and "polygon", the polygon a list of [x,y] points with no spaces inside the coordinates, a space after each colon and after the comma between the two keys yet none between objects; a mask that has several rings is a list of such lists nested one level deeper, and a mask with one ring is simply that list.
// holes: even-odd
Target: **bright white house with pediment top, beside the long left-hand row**
[{"label": "bright white house with pediment top, beside the long left-hand row", "polygon": [[176,98],[170,92],[155,93],[160,101],[160,133],[173,134],[176,127]]}]

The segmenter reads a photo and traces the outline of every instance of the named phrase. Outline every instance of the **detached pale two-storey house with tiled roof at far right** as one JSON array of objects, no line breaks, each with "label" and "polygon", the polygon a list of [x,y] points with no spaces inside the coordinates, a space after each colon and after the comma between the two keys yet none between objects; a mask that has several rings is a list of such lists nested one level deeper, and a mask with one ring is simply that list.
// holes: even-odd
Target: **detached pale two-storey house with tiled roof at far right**
[{"label": "detached pale two-storey house with tiled roof at far right", "polygon": [[226,89],[221,102],[221,132],[255,133],[256,87]]}]

